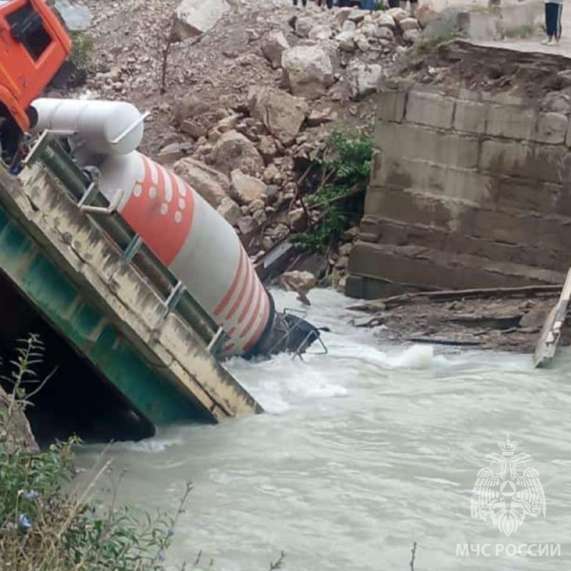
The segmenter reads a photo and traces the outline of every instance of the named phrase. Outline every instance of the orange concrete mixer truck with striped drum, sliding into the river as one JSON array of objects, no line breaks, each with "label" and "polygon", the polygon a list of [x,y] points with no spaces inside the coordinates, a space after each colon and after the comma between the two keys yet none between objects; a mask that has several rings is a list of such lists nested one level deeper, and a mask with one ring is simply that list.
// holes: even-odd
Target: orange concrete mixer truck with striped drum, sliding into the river
[{"label": "orange concrete mixer truck with striped drum, sliding into the river", "polygon": [[13,138],[21,132],[61,138],[107,199],[109,213],[131,226],[218,325],[218,358],[302,353],[320,340],[319,330],[303,318],[276,311],[232,226],[186,181],[136,150],[145,118],[137,108],[118,101],[36,98],[71,47],[43,1],[0,2],[0,26],[6,158],[14,163]]}]

